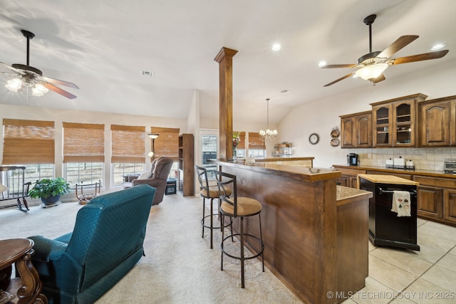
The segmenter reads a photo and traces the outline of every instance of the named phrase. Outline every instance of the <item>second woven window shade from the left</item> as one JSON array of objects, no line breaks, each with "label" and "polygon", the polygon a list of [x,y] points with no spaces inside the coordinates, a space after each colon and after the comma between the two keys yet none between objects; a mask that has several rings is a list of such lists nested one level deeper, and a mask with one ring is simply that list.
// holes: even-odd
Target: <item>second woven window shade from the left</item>
[{"label": "second woven window shade from the left", "polygon": [[105,162],[105,125],[63,122],[63,162]]}]

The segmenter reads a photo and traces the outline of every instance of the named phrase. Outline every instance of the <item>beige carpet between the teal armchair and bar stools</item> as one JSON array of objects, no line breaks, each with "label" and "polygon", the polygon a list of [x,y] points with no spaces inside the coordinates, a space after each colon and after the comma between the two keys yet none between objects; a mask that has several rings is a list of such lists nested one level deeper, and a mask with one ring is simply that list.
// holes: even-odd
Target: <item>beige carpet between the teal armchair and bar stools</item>
[{"label": "beige carpet between the teal armchair and bar stools", "polygon": [[[81,205],[63,203],[27,213],[0,209],[0,239],[43,235],[54,238],[73,229]],[[202,199],[165,196],[152,206],[145,238],[145,257],[96,303],[301,303],[261,261],[246,263],[241,288],[240,262],[224,257],[220,271],[219,231],[214,249],[209,231],[201,237]]]}]

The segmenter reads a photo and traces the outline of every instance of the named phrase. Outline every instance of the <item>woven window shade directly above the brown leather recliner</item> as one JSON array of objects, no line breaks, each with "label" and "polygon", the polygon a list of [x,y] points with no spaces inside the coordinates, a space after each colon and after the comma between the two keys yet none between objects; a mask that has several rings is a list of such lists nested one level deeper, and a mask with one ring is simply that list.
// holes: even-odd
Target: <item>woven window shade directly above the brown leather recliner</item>
[{"label": "woven window shade directly above the brown leather recliner", "polygon": [[[177,162],[179,160],[179,128],[150,127],[152,134],[158,134],[155,140],[155,158],[166,156]],[[152,140],[150,140],[152,147]]]}]

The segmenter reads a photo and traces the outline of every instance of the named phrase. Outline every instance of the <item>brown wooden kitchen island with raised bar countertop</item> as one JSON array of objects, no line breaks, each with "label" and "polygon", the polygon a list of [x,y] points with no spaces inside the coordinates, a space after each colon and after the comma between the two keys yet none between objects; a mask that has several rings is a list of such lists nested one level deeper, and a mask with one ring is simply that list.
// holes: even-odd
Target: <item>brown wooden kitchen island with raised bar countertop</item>
[{"label": "brown wooden kitchen island with raised bar countertop", "polygon": [[[239,196],[260,201],[264,263],[304,303],[340,303],[364,287],[371,192],[336,187],[341,172],[333,169],[214,162],[237,175]],[[256,221],[245,221],[245,229],[259,235]]]}]

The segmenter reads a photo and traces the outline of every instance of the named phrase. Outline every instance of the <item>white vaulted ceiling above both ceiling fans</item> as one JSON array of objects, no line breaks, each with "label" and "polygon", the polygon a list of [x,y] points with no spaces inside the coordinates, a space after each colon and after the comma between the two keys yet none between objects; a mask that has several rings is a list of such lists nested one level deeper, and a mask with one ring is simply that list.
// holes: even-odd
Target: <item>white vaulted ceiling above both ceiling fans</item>
[{"label": "white vaulted ceiling above both ceiling fans", "polygon": [[[234,117],[264,122],[265,99],[271,98],[276,124],[296,105],[370,85],[348,78],[323,88],[351,70],[317,66],[321,60],[356,63],[368,53],[363,19],[370,14],[377,14],[373,51],[403,35],[420,38],[393,58],[427,53],[435,43],[450,49],[434,61],[390,66],[377,85],[456,58],[454,0],[3,0],[1,7],[0,61],[26,64],[20,32],[26,29],[36,35],[30,65],[80,88],[68,88],[78,96],[74,100],[53,92],[30,97],[31,107],[187,117],[199,90],[202,117],[212,117],[219,98],[214,58],[225,46],[239,51],[233,58]],[[273,43],[281,50],[271,51]],[[26,104],[26,93],[2,87],[0,103]]]}]

